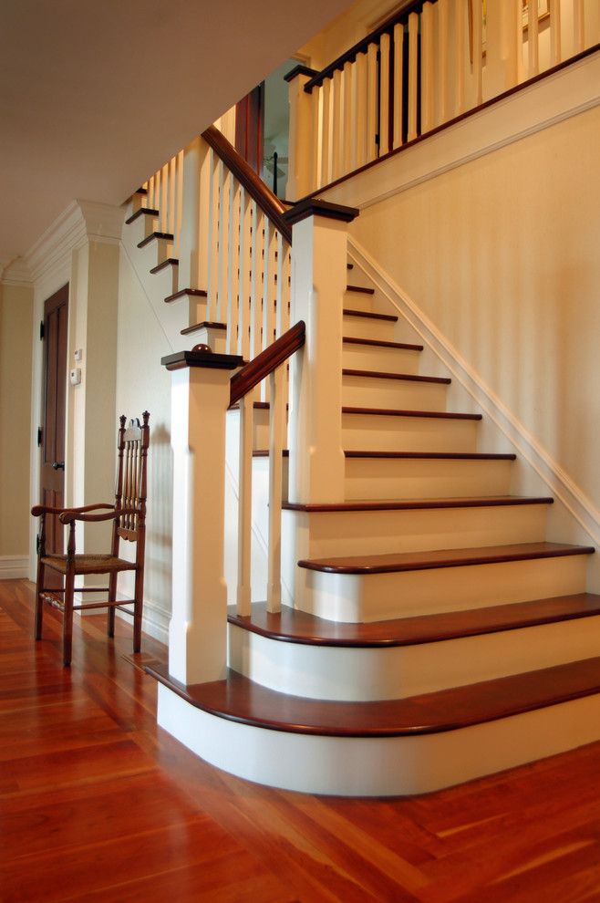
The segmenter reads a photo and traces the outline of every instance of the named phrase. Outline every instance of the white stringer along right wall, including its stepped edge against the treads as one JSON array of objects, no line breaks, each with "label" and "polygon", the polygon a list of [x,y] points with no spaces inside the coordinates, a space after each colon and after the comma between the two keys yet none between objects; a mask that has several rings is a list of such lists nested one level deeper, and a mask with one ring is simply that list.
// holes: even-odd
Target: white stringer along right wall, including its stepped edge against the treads
[{"label": "white stringer along right wall, including its stepped edge against the treads", "polygon": [[[479,410],[484,414],[480,426],[480,445],[502,446],[517,454],[513,463],[512,493],[551,494],[552,511],[548,514],[547,539],[560,539],[574,544],[600,545],[600,512],[594,503],[570,478],[560,464],[514,416],[481,375],[460,355],[450,340],[426,317],[417,302],[404,291],[367,250],[348,235],[348,257],[360,267],[376,286],[378,293],[409,326],[413,336],[424,345],[423,371],[450,373],[449,407],[456,410]],[[508,448],[507,448],[508,443]],[[588,588],[600,590],[600,559],[592,555],[588,564]]]}]

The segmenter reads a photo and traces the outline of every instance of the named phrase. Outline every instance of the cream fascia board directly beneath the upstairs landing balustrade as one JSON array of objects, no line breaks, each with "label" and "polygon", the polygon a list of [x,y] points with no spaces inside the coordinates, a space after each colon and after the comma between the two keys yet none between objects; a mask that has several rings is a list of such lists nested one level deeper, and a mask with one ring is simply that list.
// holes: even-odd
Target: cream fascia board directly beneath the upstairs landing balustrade
[{"label": "cream fascia board directly beneath the upstairs landing balustrade", "polygon": [[394,152],[318,197],[364,210],[600,105],[600,51]]}]

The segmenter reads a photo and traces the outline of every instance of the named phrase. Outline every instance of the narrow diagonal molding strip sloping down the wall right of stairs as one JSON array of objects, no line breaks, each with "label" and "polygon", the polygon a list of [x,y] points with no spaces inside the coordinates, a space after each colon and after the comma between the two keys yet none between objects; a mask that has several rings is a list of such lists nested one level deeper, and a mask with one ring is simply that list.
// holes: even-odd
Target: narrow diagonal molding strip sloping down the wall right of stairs
[{"label": "narrow diagonal molding strip sloping down the wall right of stairs", "polygon": [[381,269],[367,250],[350,236],[348,236],[348,255],[354,263],[364,269],[379,291],[419,333],[443,366],[450,371],[452,379],[460,383],[471,395],[486,417],[502,431],[523,461],[533,467],[550,492],[584,528],[592,542],[600,545],[600,512],[581,487],[574,483],[564,468],[543,448],[521,420],[512,414],[500,397],[481,379],[480,374],[460,355],[458,349],[429,317],[423,314],[419,305]]}]

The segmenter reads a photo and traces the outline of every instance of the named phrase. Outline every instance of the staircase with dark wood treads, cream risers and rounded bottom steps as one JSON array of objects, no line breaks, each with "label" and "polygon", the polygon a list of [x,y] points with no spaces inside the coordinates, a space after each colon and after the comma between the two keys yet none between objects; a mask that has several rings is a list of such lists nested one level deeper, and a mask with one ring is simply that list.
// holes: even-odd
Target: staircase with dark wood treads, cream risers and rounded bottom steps
[{"label": "staircase with dark wood treads, cream risers and rounded bottom steps", "polygon": [[[124,242],[165,333],[222,350],[157,216],[134,210]],[[149,669],[161,726],[250,780],[344,795],[425,793],[598,739],[594,548],[545,541],[553,499],[511,494],[515,455],[479,449],[481,414],[447,410],[450,379],[420,373],[422,346],[347,267],[345,501],[284,502],[294,607],[230,608],[226,680]]]}]

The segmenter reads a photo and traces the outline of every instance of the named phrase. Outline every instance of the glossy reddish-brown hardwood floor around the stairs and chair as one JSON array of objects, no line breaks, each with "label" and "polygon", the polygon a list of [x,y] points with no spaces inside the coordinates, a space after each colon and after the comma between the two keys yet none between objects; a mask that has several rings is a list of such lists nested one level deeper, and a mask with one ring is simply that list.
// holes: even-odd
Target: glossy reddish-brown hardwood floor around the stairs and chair
[{"label": "glossy reddish-brown hardwood floor around the stairs and chair", "polygon": [[[276,791],[157,728],[164,660],[76,623],[71,669],[33,592],[0,583],[0,900],[600,900],[600,743],[411,799]],[[134,664],[135,662],[135,664]]]}]

